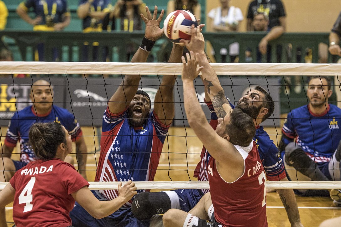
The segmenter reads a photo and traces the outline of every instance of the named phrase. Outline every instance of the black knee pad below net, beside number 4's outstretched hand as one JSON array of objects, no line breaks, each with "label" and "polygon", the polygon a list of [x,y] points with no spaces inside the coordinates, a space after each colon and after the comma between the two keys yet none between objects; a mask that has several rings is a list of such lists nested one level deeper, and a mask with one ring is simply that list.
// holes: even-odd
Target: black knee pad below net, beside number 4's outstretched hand
[{"label": "black knee pad below net, beside number 4's outstretched hand", "polygon": [[164,214],[172,208],[168,195],[164,192],[143,192],[138,194],[131,210],[139,220],[151,218],[155,214]]}]

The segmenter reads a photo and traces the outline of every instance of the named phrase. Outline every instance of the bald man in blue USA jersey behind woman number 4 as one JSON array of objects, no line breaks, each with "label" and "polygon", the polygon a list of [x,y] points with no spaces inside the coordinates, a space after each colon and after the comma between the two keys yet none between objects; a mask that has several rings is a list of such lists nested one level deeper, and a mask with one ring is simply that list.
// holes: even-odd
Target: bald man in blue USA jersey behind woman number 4
[{"label": "bald man in blue USA jersey behind woman number 4", "polygon": [[[60,122],[72,136],[76,143],[76,157],[79,173],[86,178],[87,148],[82,131],[72,113],[68,110],[53,105],[53,87],[46,80],[37,80],[32,84],[30,93],[33,105],[17,111],[9,124],[6,139],[2,145],[0,157],[0,182],[9,182],[14,173],[35,161],[36,156],[29,146],[28,131],[36,122]],[[11,159],[12,152],[20,139],[20,161]],[[73,158],[69,155],[65,161],[73,164]],[[0,219],[5,220],[5,210],[0,211]]]}]

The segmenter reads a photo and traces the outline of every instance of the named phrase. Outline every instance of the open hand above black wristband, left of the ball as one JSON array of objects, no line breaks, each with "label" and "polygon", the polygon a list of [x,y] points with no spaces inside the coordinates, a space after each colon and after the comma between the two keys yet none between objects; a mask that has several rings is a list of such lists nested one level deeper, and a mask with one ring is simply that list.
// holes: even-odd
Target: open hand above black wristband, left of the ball
[{"label": "open hand above black wristband, left of the ball", "polygon": [[158,19],[156,19],[158,16],[158,6],[155,5],[153,16],[149,11],[148,6],[146,6],[146,12],[148,19],[141,13],[141,18],[146,23],[145,37],[148,40],[156,41],[163,35],[163,30],[160,28],[160,22],[165,11],[161,11]]}]

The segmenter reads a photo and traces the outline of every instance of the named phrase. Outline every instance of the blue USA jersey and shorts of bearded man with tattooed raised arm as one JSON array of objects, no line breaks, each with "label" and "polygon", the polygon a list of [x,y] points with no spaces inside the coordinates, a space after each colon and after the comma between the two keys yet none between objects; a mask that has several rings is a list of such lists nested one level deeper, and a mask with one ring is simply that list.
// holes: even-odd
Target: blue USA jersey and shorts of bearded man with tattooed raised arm
[{"label": "blue USA jersey and shorts of bearded man with tattooed raised arm", "polygon": [[[213,129],[216,129],[218,125],[218,117],[214,112],[212,103],[209,102],[206,104],[211,112],[210,125]],[[232,105],[231,103],[230,105],[232,108],[234,108],[234,105]],[[269,135],[264,131],[263,126],[258,125],[256,127],[256,135],[253,140],[256,142],[267,180],[279,181],[284,179],[286,177],[286,174],[284,171],[282,158],[280,157],[278,149],[273,143],[273,140],[271,140]],[[195,168],[196,170],[194,171],[194,177],[197,177],[198,181],[208,181],[208,173],[206,170],[210,157],[211,155],[207,152],[205,147],[203,147],[201,160]],[[179,189],[174,191],[179,196],[181,210],[188,212],[199,202],[199,200],[205,193],[209,192],[209,189]]]}]

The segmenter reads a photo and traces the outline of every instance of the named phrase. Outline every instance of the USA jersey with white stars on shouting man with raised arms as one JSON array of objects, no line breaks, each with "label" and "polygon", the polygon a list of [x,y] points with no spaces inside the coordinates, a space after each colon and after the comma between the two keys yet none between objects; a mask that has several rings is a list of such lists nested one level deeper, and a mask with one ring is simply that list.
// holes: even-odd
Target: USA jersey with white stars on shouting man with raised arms
[{"label": "USA jersey with white stars on shouting man with raised arms", "polygon": [[[149,113],[143,127],[134,128],[129,124],[127,108],[114,114],[107,107],[95,181],[153,181],[168,128],[155,111]],[[117,190],[100,190],[100,193],[108,200],[118,196]],[[130,207],[131,202],[123,208]]]}]

